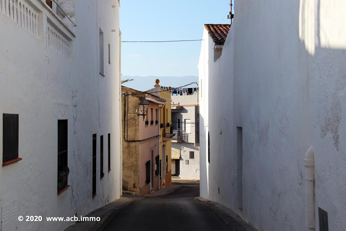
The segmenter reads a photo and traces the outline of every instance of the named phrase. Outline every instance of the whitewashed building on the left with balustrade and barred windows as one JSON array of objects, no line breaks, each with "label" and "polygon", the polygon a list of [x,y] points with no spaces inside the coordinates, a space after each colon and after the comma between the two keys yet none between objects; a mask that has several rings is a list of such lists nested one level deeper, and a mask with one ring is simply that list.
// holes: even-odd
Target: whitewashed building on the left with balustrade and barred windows
[{"label": "whitewashed building on the left with balustrade and barred windows", "polygon": [[66,15],[55,1],[0,0],[2,231],[64,230],[72,222],[46,216],[80,217],[122,192],[120,3],[57,3]]}]

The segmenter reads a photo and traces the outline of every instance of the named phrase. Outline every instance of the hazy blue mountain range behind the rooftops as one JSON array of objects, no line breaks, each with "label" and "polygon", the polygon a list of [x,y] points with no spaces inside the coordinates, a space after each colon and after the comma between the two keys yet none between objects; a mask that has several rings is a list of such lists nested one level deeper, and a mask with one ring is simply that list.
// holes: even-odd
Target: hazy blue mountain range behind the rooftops
[{"label": "hazy blue mountain range behind the rooftops", "polygon": [[[173,76],[128,76],[122,75],[121,80],[125,79],[133,79],[133,81],[123,83],[122,85],[125,87],[129,87],[132,89],[136,89],[139,91],[146,91],[154,88],[155,79],[160,80],[160,85],[164,87],[181,87],[191,82],[198,82],[197,76],[182,76],[182,77],[173,77]],[[189,87],[196,87],[195,84],[190,85]]]}]

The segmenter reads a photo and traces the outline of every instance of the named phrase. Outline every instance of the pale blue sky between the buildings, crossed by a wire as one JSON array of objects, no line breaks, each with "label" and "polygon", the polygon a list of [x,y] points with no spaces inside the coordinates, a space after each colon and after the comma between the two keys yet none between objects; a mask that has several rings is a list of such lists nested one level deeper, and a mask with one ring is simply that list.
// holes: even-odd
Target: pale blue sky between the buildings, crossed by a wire
[{"label": "pale blue sky between the buildings, crossed by a wire", "polygon": [[[229,0],[120,0],[122,41],[202,39],[204,24],[227,24]],[[201,41],[122,43],[122,75],[198,76]]]}]

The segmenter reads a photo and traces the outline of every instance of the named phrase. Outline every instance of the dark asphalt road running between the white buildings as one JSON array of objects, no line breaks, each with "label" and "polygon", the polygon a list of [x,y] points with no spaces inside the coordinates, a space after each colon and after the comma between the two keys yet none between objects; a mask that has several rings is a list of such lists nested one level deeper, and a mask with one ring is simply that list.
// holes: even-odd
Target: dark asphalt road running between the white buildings
[{"label": "dark asphalt road running between the white buildings", "polygon": [[199,182],[173,184],[183,187],[161,197],[126,195],[135,201],[123,208],[103,231],[231,230],[215,212],[193,199],[199,196]]}]

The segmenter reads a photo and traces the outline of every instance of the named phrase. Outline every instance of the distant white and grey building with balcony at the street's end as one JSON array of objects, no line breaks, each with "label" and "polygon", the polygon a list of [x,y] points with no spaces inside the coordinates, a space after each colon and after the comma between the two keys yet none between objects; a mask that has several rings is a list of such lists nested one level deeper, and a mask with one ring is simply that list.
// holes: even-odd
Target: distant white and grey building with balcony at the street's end
[{"label": "distant white and grey building with balcony at the street's end", "polygon": [[199,179],[198,95],[172,96],[172,176]]}]

